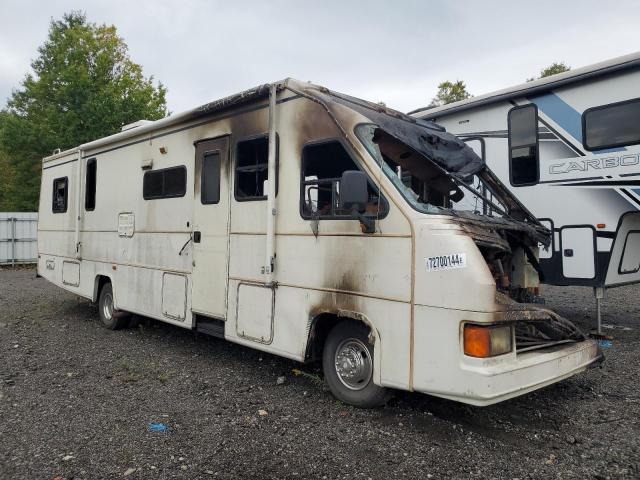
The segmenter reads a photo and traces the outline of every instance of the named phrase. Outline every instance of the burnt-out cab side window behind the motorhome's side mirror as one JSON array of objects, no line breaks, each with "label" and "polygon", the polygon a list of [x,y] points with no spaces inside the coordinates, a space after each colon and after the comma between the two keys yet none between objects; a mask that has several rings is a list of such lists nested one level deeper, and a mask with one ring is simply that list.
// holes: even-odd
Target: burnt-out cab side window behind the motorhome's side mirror
[{"label": "burnt-out cab side window behind the motorhome's side mirror", "polygon": [[[300,189],[303,218],[351,218],[351,212],[340,210],[340,179],[347,170],[359,170],[337,140],[307,145],[302,150],[302,182]],[[366,213],[384,216],[387,204],[369,182]]]}]

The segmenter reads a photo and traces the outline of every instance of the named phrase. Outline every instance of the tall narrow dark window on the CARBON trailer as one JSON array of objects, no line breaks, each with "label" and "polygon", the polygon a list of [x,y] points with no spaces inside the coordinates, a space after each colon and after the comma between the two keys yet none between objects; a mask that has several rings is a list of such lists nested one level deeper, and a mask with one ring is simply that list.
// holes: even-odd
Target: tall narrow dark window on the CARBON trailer
[{"label": "tall narrow dark window on the CARBON trailer", "polygon": [[538,163],[538,108],[514,107],[507,115],[509,124],[509,176],[511,185],[534,185],[540,179]]}]

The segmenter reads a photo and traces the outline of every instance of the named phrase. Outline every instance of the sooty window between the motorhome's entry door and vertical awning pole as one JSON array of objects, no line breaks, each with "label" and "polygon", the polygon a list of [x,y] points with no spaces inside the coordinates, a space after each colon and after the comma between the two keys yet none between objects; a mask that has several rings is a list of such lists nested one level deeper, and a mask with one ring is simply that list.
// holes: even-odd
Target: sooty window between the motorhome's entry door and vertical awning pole
[{"label": "sooty window between the motorhome's entry door and vertical awning pole", "polygon": [[[238,142],[236,146],[236,200],[265,200],[269,173],[269,137]],[[278,193],[278,137],[276,136],[276,195]]]}]

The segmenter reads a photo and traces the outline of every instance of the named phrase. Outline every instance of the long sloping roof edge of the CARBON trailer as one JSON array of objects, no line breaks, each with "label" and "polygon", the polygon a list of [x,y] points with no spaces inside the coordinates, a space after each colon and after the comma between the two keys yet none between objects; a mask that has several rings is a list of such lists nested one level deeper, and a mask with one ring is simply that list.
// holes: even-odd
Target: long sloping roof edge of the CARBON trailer
[{"label": "long sloping roof edge of the CARBON trailer", "polygon": [[441,107],[423,107],[409,112],[409,115],[423,119],[432,119],[469,110],[471,108],[488,105],[495,102],[510,100],[523,95],[531,95],[542,91],[552,90],[557,87],[577,83],[589,78],[599,77],[608,73],[640,67],[640,52],[630,53],[622,57],[612,58],[604,62],[595,63],[587,67],[576,68],[564,73],[558,73],[549,77],[540,78],[531,82],[522,83],[514,87],[505,88],[496,92],[478,95],[467,100],[450,103]]}]

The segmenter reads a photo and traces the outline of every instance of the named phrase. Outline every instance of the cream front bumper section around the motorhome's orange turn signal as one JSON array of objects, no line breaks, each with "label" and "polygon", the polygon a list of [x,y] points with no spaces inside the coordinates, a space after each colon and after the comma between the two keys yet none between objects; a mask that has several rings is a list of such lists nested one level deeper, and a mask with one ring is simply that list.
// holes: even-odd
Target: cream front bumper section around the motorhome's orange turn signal
[{"label": "cream front bumper section around the motorhome's orange turn signal", "polygon": [[[448,311],[447,316],[459,318],[436,325],[429,317],[416,315],[416,391],[471,405],[491,405],[568,378],[603,359],[598,342],[591,339],[487,359],[467,357],[461,349],[461,322],[490,322],[493,314]],[[418,347],[424,343],[433,348]]]}]

